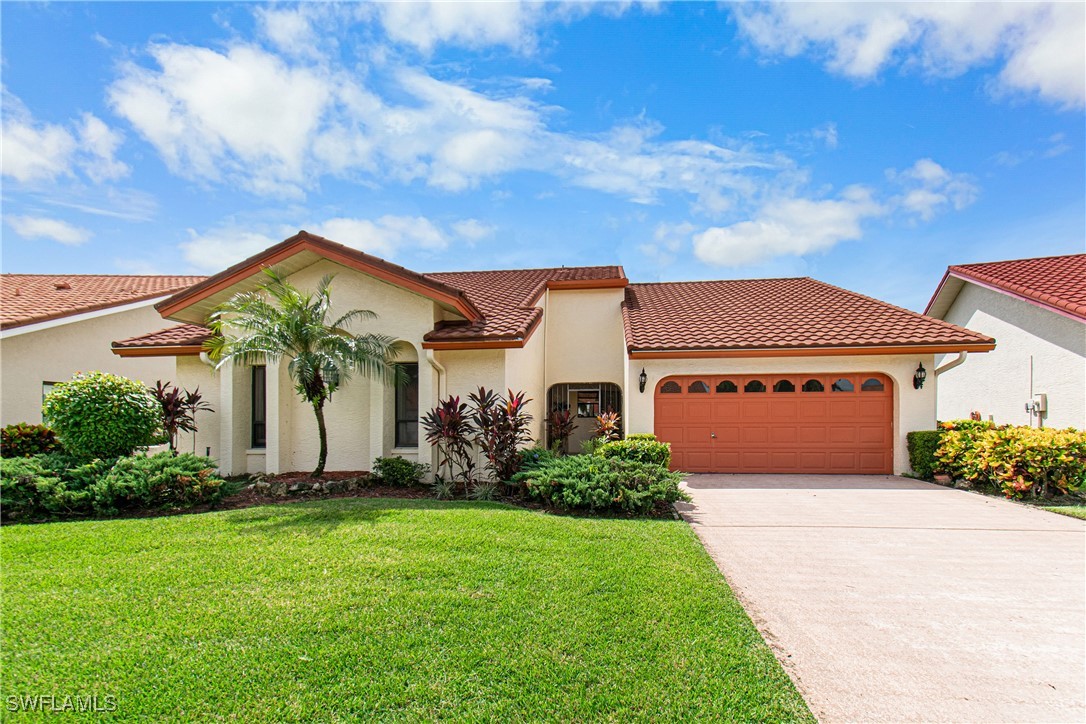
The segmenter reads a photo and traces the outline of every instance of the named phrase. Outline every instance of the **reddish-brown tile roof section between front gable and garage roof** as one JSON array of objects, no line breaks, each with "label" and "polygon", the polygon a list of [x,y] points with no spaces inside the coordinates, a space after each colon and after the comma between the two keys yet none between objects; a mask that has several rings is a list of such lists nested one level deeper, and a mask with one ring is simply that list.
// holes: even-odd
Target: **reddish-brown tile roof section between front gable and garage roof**
[{"label": "reddish-brown tile roof section between front gable and garage roof", "polygon": [[462,290],[483,314],[479,321],[439,325],[426,335],[427,341],[446,342],[522,339],[543,317],[543,310],[535,304],[547,287],[576,288],[606,282],[624,287],[627,283],[620,266],[442,271],[426,276]]}]

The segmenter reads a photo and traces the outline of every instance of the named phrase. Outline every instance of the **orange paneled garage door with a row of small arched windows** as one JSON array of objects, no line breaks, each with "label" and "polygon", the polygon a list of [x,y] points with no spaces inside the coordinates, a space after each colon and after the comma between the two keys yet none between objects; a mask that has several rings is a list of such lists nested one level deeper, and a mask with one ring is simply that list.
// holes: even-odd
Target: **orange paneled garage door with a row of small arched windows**
[{"label": "orange paneled garage door with a row of small arched windows", "polygon": [[891,473],[894,389],[884,374],[669,377],[656,436],[686,472]]}]

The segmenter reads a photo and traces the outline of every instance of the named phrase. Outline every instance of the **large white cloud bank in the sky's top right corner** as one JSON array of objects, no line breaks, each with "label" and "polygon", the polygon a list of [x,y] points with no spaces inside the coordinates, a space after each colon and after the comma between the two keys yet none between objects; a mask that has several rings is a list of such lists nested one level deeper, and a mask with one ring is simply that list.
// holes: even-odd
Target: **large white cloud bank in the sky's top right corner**
[{"label": "large white cloud bank in the sky's top right corner", "polygon": [[1081,2],[773,2],[734,7],[741,30],[771,55],[824,58],[867,80],[900,64],[943,77],[999,64],[993,92],[1086,104]]}]

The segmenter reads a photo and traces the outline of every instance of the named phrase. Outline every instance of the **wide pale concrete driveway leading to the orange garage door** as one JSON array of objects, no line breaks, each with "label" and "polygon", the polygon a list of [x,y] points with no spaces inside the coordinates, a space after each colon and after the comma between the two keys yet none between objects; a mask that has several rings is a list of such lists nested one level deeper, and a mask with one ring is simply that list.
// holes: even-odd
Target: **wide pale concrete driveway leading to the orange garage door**
[{"label": "wide pale concrete driveway leading to the orange garage door", "polygon": [[1086,523],[882,475],[680,506],[822,721],[1086,721]]}]

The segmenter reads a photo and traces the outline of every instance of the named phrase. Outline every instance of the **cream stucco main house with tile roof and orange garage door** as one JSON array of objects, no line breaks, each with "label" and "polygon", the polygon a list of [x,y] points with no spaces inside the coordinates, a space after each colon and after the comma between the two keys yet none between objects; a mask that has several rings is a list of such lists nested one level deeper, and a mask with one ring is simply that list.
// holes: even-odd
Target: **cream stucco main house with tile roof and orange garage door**
[{"label": "cream stucco main house with tile roof and orange garage door", "polygon": [[994,347],[812,279],[631,284],[616,266],[424,275],[302,231],[159,303],[179,326],[114,343],[122,357],[176,357],[178,381],[216,409],[184,445],[227,473],[316,462],[316,424],[285,364],[216,372],[200,354],[209,313],[269,266],[301,288],[336,274],[334,303],[376,312],[358,331],[397,339],[409,374],[400,390],[356,379],[334,394],[331,470],[383,455],[432,463],[419,412],[485,385],[528,393],[536,440],[548,410],[576,410],[583,435],[613,409],[627,432],[670,442],[687,471],[905,471],[906,433],[935,424],[934,376],[915,389],[918,367]]}]

